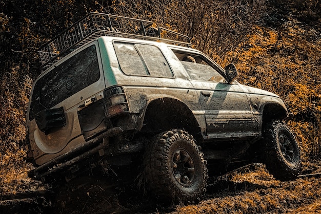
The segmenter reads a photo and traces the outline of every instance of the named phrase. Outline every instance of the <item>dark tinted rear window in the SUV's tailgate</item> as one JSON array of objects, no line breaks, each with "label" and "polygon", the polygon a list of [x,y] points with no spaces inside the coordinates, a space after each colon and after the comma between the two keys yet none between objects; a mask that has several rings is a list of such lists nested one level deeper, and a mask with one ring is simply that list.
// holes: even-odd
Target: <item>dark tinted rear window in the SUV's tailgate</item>
[{"label": "dark tinted rear window in the SUV's tailgate", "polygon": [[75,54],[39,79],[33,89],[29,119],[50,109],[71,95],[98,81],[100,77],[95,46]]}]

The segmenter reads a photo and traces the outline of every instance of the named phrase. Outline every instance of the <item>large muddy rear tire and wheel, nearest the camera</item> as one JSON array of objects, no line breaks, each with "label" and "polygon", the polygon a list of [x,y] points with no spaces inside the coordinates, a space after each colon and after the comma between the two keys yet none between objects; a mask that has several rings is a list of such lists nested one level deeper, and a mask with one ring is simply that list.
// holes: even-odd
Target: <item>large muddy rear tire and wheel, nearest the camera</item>
[{"label": "large muddy rear tire and wheel, nearest the camera", "polygon": [[203,156],[187,132],[172,130],[156,135],[144,156],[148,189],[163,202],[200,200],[208,179]]}]

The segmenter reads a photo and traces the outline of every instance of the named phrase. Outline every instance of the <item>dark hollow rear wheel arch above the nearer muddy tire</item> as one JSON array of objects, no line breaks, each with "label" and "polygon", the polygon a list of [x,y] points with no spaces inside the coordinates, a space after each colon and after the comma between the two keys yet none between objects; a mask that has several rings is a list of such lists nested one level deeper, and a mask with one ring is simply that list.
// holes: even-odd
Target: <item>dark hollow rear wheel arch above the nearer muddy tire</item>
[{"label": "dark hollow rear wheel arch above the nearer muddy tire", "polygon": [[174,98],[151,100],[143,115],[141,132],[157,134],[174,129],[185,130],[197,143],[203,142],[200,126],[188,106]]}]

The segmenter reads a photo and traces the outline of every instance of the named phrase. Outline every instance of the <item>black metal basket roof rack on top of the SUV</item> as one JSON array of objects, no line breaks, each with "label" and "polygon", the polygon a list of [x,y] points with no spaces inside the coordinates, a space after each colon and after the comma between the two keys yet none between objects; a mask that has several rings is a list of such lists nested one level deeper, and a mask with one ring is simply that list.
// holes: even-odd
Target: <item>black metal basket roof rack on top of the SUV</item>
[{"label": "black metal basket roof rack on top of the SUV", "polygon": [[138,38],[191,46],[188,36],[166,28],[156,28],[153,22],[92,12],[38,49],[42,69],[46,70],[73,50],[100,36]]}]

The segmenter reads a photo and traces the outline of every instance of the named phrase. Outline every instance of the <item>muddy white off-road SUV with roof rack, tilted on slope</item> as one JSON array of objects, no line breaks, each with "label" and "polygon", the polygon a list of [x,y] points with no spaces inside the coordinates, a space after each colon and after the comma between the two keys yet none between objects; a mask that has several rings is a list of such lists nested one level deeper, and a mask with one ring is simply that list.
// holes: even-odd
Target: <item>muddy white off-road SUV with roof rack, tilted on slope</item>
[{"label": "muddy white off-road SUV with roof rack, tilted on slope", "polygon": [[45,71],[28,105],[29,175],[140,158],[149,189],[177,201],[200,198],[208,173],[249,162],[295,178],[300,155],[283,101],[239,84],[234,65],[223,69],[190,46],[145,20],[90,13],[39,49]]}]

